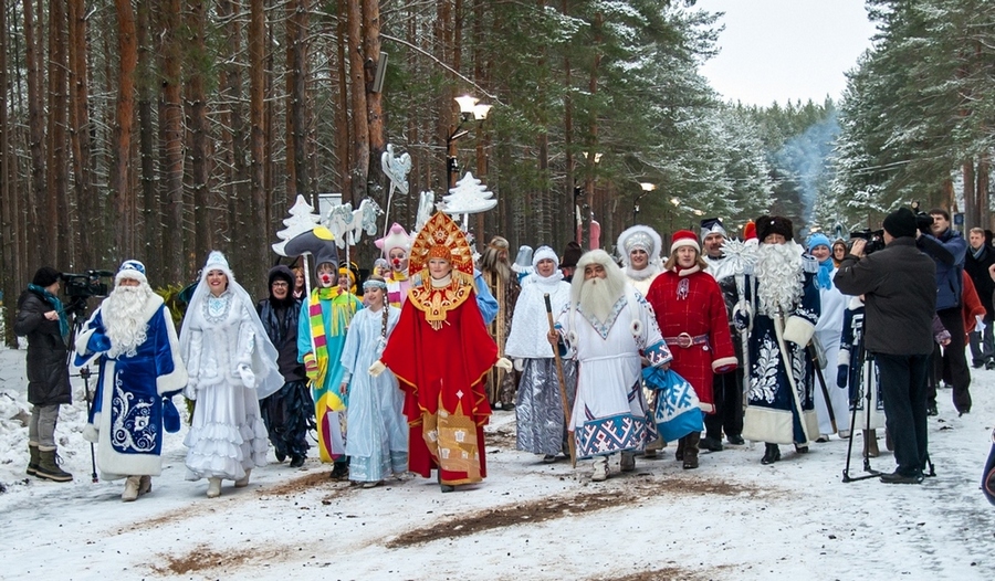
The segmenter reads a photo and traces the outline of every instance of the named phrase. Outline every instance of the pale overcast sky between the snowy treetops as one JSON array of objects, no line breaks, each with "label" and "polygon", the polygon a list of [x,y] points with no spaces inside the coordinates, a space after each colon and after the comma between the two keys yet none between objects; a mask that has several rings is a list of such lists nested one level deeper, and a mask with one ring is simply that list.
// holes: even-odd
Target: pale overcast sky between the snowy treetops
[{"label": "pale overcast sky between the snowy treetops", "polygon": [[751,105],[839,99],[844,72],[874,33],[863,0],[698,0],[696,8],[725,12],[721,52],[702,73],[726,99]]}]

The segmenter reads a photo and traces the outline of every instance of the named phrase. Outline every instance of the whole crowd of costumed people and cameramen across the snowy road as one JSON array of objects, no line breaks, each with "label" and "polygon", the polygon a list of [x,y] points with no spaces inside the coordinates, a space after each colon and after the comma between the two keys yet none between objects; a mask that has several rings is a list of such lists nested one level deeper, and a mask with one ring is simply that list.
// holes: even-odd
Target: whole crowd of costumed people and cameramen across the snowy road
[{"label": "whole crowd of costumed people and cameramen across the snowy road", "polygon": [[[161,472],[165,432],[181,429],[177,394],[192,402],[187,479],[206,478],[211,498],[224,480],[247,486],[270,445],[303,466],[311,441],[333,478],[366,488],[432,472],[442,492],[480,483],[495,409],[515,414],[519,450],[590,459],[595,482],[615,454],[629,472],[675,444],[694,469],[702,451],[748,440],[769,465],[782,445],[804,455],[858,432],[866,456],[882,435],[893,450],[883,482],[922,482],[938,388],[968,413],[967,346],[974,368],[995,369],[991,233],[965,241],[946,211],[903,208],[877,244],[795,234],[784,216],[762,215],[739,237],[709,219],[664,247],[637,224],[615,256],[570,242],[563,255],[523,246],[512,263],[505,239],[476,255],[439,212],[417,233],[392,224],[362,279],[315,226],[285,246],[307,260],[273,267],[258,302],[211,252],[178,336],[145,266],[128,260],[73,337],[73,363],[97,369],[83,435],[102,477],[125,480],[126,501]],[[71,402],[60,281],[38,271],[15,332],[28,337],[28,474],[70,482],[54,437]],[[693,390],[680,426],[668,385]]]}]

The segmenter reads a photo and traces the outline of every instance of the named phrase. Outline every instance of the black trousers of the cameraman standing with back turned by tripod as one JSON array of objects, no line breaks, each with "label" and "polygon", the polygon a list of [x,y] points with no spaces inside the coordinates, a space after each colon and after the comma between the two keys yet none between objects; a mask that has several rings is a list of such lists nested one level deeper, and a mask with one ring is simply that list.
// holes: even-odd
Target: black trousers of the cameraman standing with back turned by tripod
[{"label": "black trousers of the cameraman standing with back turned by tripod", "polygon": [[[961,352],[964,352],[963,345]],[[881,381],[884,424],[891,434],[898,472],[904,476],[919,475],[929,457],[925,411],[930,356],[874,353],[874,360]]]}]

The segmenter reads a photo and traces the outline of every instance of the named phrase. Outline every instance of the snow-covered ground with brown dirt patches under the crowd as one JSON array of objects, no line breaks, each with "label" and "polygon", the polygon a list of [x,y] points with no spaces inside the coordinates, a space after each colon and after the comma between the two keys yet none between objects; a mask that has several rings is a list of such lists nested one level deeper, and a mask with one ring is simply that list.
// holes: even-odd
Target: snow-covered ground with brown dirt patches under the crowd
[{"label": "snow-covered ground with brown dirt patches under the crowd", "polygon": [[[0,350],[2,579],[995,579],[995,507],[978,486],[995,371],[974,371],[963,418],[941,392],[936,477],[921,486],[844,484],[835,436],[805,456],[782,446],[772,466],[757,445],[683,471],[671,446],[590,483],[589,463],[515,452],[514,414],[495,412],[489,477],[451,494],[422,478],[349,487],[314,458],[291,469],[271,456],[249,487],[209,499],[206,480],[184,480],[180,432],[153,492],[125,504],[122,482],[91,482],[82,383],[56,430],[74,482],[25,477],[23,355]],[[888,454],[871,462],[893,469]]]}]

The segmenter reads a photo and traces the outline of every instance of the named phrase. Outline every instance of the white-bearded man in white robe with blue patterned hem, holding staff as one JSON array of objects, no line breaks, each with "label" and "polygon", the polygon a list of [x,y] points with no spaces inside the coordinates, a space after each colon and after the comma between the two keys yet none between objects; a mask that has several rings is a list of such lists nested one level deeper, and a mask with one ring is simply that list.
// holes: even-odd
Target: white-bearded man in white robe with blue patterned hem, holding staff
[{"label": "white-bearded man in white robe with blue patterned hem, holding staff", "polygon": [[[554,346],[563,341],[561,347],[577,360],[577,394],[569,427],[577,456],[594,458],[591,480],[605,480],[609,455],[639,452],[656,440],[656,425],[642,397],[641,368],[645,359],[666,369],[670,350],[652,307],[603,250],[580,257],[570,283],[570,302],[548,339]],[[621,465],[625,472],[633,468],[631,463]]]}]

